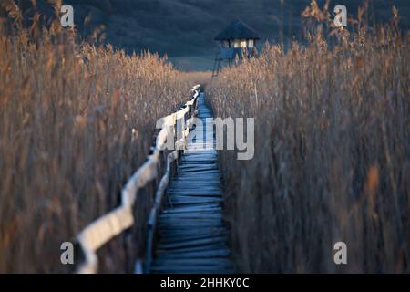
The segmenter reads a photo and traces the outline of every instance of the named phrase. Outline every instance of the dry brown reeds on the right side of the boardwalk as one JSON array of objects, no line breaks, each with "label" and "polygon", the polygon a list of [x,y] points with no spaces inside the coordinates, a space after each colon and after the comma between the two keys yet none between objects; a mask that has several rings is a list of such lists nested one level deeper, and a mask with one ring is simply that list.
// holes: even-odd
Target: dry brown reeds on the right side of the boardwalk
[{"label": "dry brown reeds on the right side of the boardwalk", "polygon": [[318,33],[207,87],[216,116],[255,118],[253,160],[220,152],[241,272],[409,272],[409,40],[378,27],[331,48]]}]

